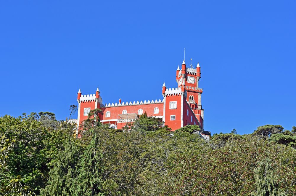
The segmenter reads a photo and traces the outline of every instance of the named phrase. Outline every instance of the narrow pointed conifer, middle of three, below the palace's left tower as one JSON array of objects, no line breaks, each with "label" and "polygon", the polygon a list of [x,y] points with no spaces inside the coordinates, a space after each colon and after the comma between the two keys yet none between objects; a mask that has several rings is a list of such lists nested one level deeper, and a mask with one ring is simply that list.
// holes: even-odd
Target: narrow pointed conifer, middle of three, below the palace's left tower
[{"label": "narrow pointed conifer, middle of three, below the palace's left tower", "polygon": [[97,148],[99,138],[96,130],[89,130],[92,138],[90,144],[84,151],[79,175],[77,178],[77,189],[75,195],[101,195],[102,189],[102,151]]}]

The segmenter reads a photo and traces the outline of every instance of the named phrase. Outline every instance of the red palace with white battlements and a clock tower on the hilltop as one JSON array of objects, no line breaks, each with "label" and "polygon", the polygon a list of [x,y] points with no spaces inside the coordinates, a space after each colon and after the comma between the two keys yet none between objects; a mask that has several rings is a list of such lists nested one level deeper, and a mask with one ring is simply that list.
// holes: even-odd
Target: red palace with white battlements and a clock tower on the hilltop
[{"label": "red palace with white battlements and a clock tower on the hilltop", "polygon": [[176,71],[176,88],[167,88],[165,83],[162,87],[163,100],[148,101],[127,101],[118,103],[103,104],[99,88],[95,94],[81,95],[78,91],[78,118],[77,124],[87,119],[88,113],[96,108],[102,109],[104,114],[100,115],[100,121],[108,124],[110,128],[123,128],[127,122],[133,122],[138,115],[147,113],[147,116],[162,118],[165,125],[168,125],[173,131],[184,127],[185,125],[199,125],[200,134],[209,139],[210,132],[203,131],[203,114],[202,109],[202,88],[198,87],[200,79],[200,65],[197,63],[196,68],[190,64],[186,68],[183,60],[181,70],[178,66]]}]

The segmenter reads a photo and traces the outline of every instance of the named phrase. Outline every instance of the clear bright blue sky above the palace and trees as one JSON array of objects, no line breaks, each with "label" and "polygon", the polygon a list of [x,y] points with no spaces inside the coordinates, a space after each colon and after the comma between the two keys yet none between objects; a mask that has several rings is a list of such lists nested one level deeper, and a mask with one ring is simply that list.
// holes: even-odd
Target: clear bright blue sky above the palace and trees
[{"label": "clear bright blue sky above the palace and trees", "polygon": [[205,130],[296,126],[295,1],[2,1],[0,115],[162,98],[186,48]]}]

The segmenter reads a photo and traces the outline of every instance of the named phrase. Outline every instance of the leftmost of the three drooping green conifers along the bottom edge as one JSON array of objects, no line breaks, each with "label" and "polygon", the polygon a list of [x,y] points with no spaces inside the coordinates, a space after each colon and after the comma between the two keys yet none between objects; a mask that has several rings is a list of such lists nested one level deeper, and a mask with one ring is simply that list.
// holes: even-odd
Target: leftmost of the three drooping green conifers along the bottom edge
[{"label": "leftmost of the three drooping green conifers along the bottom edge", "polygon": [[77,166],[81,156],[75,138],[68,136],[65,150],[59,152],[54,167],[49,172],[49,182],[40,195],[73,195],[76,185]]}]

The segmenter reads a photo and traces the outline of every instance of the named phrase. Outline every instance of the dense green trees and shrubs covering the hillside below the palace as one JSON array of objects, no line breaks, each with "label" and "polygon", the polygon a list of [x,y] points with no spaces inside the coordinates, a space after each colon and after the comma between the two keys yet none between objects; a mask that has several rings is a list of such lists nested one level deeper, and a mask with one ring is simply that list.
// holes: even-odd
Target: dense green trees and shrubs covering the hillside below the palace
[{"label": "dense green trees and shrubs covering the hillside below the palace", "polygon": [[296,195],[295,127],[206,141],[145,115],[109,129],[100,112],[80,138],[49,112],[0,117],[0,195]]}]

